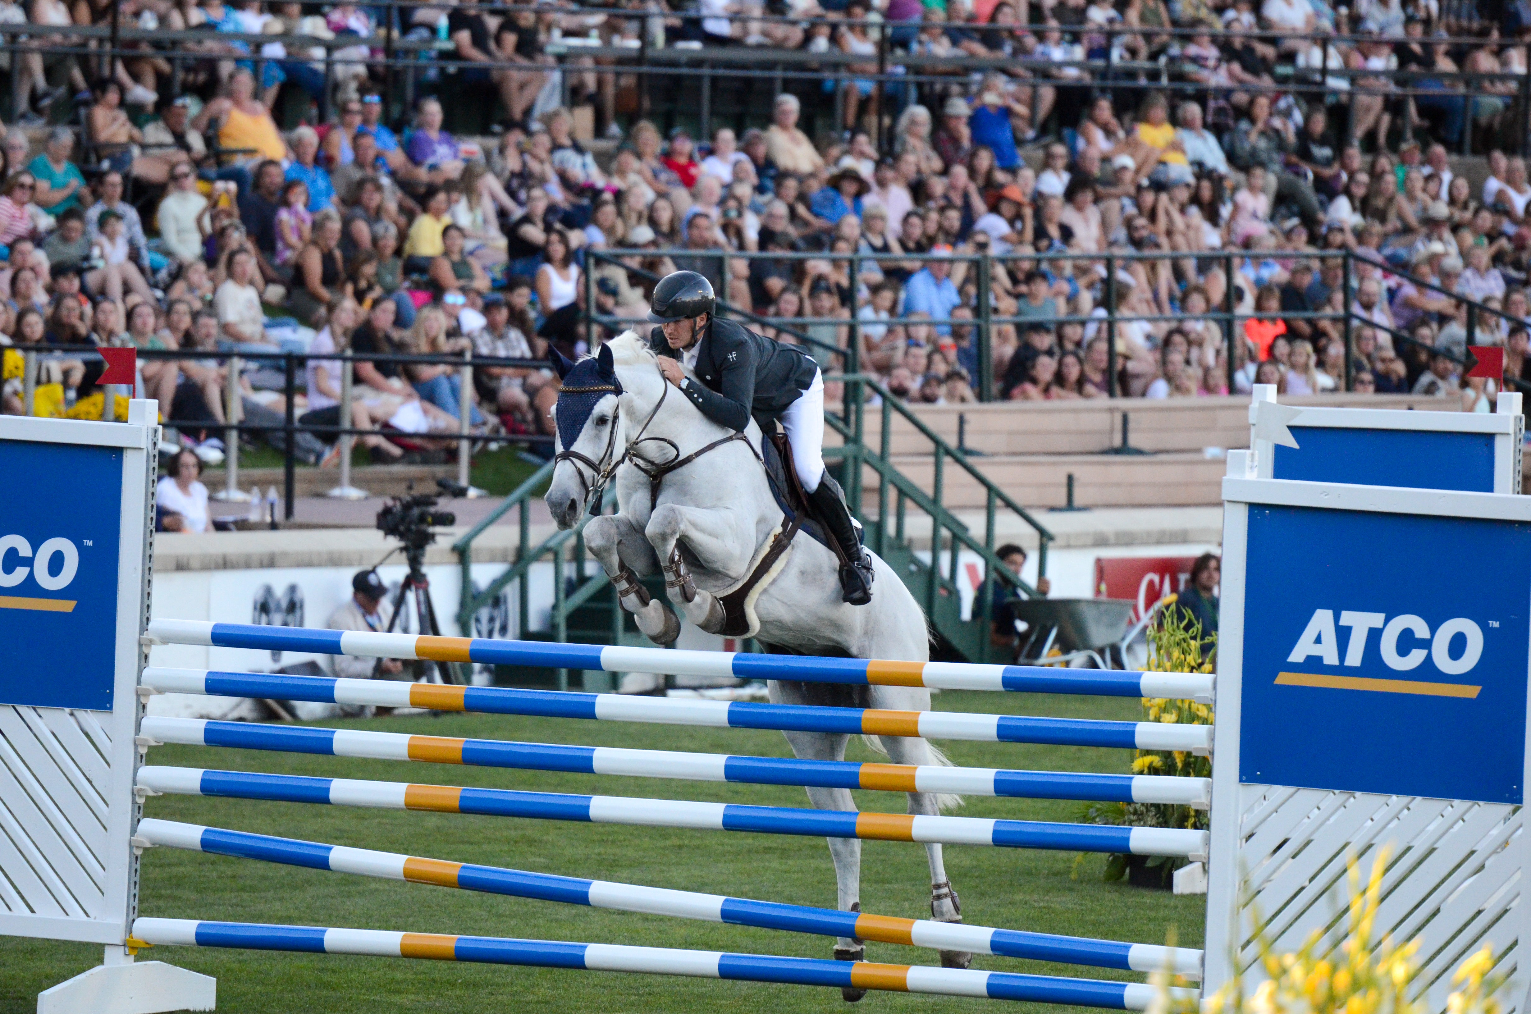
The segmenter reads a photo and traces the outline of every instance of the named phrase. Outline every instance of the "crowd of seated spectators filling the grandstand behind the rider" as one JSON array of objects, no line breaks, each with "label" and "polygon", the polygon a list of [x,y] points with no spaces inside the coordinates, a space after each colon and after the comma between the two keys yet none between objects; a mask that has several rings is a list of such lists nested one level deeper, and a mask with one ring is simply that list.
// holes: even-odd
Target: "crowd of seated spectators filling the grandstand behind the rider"
[{"label": "crowd of seated spectators filling the grandstand behind the rider", "polygon": [[[430,8],[458,87],[499,119],[488,138],[459,138],[430,95],[389,116],[384,69],[366,46],[337,64],[326,95],[314,63],[273,51],[279,43],[254,61],[246,43],[216,35],[372,38],[375,11],[122,0],[141,26],[204,28],[208,41],[175,96],[155,49],[93,81],[83,78],[89,60],[11,51],[29,107],[0,135],[0,409],[26,407],[15,354],[26,346],[46,352],[28,388],[32,411],[83,418],[126,411],[104,404],[92,345],[204,352],[141,360],[139,389],[182,446],[213,463],[233,397],[256,426],[279,426],[288,407],[279,360],[259,354],[302,352],[300,458],[334,461],[326,427],[341,424],[364,430],[377,461],[439,458],[452,444],[433,438],[459,432],[464,404],[476,433],[545,435],[556,384],[544,369],[481,365],[464,392],[455,366],[393,355],[525,360],[550,345],[577,355],[591,334],[641,320],[657,277],[690,268],[752,326],[808,345],[827,369],[844,368],[854,343],[860,369],[911,401],[971,401],[986,371],[997,397],[1015,400],[1252,383],[1317,394],[1349,375],[1356,391],[1461,397],[1482,411],[1493,381],[1459,378],[1470,328],[1474,345],[1505,345],[1511,377],[1531,377],[1531,181],[1523,159],[1494,147],[1476,185],[1447,144],[1476,126],[1517,149],[1528,110],[1513,81],[1465,92],[1456,77],[1409,78],[1412,90],[1399,90],[1390,75],[1525,75],[1528,32],[1519,6],[1479,23],[1471,3],[1390,5],[807,0],[788,5],[805,18],[795,25],[703,0],[704,44],[868,55],[891,32],[900,52],[1014,60],[903,87],[828,77],[822,93],[844,100],[834,109],[845,118],[821,118],[816,139],[790,92],[738,133],[620,126],[606,100],[622,75],[554,66],[545,51],[585,21],[597,34],[646,31],[652,18],[638,11]],[[17,8],[0,2],[6,9]],[[107,11],[34,0],[21,14],[64,25]],[[882,25],[862,25],[868,15]],[[1315,55],[1254,29],[1363,34],[1312,43]],[[1482,38],[1435,41],[1448,29]],[[1102,46],[1122,47],[1122,77],[1072,66]],[[1150,87],[1133,60],[1160,61],[1156,84],[1196,87]],[[58,121],[61,96],[86,86],[72,126],[35,126]],[[285,89],[326,100],[334,116],[314,123],[314,103],[308,123],[282,129],[273,109]],[[559,104],[580,89],[620,138],[600,158]],[[1112,277],[1107,254],[1121,254]],[[591,312],[606,323],[586,329]],[[341,368],[329,355],[346,349],[361,361],[341,420]]]}]

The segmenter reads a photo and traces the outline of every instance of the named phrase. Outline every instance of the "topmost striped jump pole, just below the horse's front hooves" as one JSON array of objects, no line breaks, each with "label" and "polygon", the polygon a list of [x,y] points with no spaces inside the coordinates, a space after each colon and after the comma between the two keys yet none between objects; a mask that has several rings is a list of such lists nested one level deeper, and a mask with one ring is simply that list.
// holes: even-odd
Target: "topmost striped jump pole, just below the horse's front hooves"
[{"label": "topmost striped jump pole, just below the horse's front hooves", "polygon": [[1214,677],[1203,672],[1110,672],[1036,665],[822,659],[735,651],[684,651],[623,645],[560,645],[539,640],[429,637],[372,631],[294,630],[205,620],[153,620],[145,634],[156,645],[205,645],[257,651],[311,651],[366,659],[424,659],[481,665],[668,672],[741,680],[799,680],[853,686],[928,686],[948,691],[1173,697],[1209,705]]}]

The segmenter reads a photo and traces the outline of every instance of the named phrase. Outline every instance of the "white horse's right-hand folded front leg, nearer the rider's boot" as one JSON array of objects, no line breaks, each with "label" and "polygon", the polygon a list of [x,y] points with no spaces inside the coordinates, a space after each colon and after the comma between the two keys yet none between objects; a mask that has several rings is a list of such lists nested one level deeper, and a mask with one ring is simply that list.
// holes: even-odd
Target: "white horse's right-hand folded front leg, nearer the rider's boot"
[{"label": "white horse's right-hand folded front leg, nearer the rider's boot", "polygon": [[727,510],[660,504],[645,528],[664,571],[669,600],[709,634],[723,630],[723,603],[710,591],[697,587],[681,558],[680,544],[686,544],[703,570],[743,576],[755,547],[736,532],[733,521],[733,513]]}]

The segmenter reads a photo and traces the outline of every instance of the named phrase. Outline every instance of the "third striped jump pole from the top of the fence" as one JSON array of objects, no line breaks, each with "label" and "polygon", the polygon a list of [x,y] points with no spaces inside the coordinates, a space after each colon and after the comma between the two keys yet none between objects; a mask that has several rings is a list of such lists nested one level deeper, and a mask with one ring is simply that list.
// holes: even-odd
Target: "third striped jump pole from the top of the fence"
[{"label": "third striped jump pole from the top of the fence", "polygon": [[1206,809],[1213,792],[1211,778],[736,757],[680,751],[634,751],[612,746],[461,740],[439,735],[314,729],[208,718],[145,717],[142,735],[152,743],[185,746],[470,764],[517,770],[559,770],[583,775],[732,781],[756,786],[951,792],[1024,800],[1170,803],[1194,809]]}]

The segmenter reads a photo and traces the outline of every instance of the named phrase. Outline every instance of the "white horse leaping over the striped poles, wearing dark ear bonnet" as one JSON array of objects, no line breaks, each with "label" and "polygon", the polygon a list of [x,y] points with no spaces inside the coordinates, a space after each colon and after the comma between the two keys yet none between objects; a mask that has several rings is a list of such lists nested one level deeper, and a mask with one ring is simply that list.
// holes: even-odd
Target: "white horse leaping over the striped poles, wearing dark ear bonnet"
[{"label": "white horse leaping over the striped poles, wearing dark ear bonnet", "polygon": [[[599,357],[570,365],[557,357],[563,386],[554,409],[559,464],[547,504],[560,528],[571,528],[599,498],[609,476],[617,489],[615,515],[600,515],[585,527],[585,544],[617,587],[622,607],[657,643],[672,643],[680,622],[661,602],[651,600],[635,574],[666,576],[666,596],[687,620],[718,633],[720,597],[756,570],[784,515],[772,495],[761,453],[761,432],[752,421],[744,438],[706,418],[687,398],[669,392],[658,357],[628,331],[602,346]],[[669,397],[675,394],[675,397]],[[681,467],[666,463],[701,452]],[[648,472],[646,472],[648,470]],[[661,473],[654,482],[651,473]],[[857,659],[926,662],[929,633],[914,596],[882,559],[870,605],[841,600],[837,558],[798,535],[756,588],[746,610],[750,634],[770,651],[833,654]],[[842,686],[770,682],[770,698],[793,705],[841,705],[929,711],[931,694],[917,686]],[[808,760],[844,760],[850,737],[787,732],[793,754]],[[949,764],[922,738],[868,738],[900,764]],[[808,789],[821,810],[854,810],[848,789]],[[909,812],[934,815],[958,806],[957,796],[909,793]],[[860,841],[830,838],[842,911],[860,910]],[[957,893],[942,861],[942,847],[926,844],[931,867],[931,914],[961,922]],[[860,940],[841,937],[834,956],[860,960]],[[942,963],[966,968],[971,954],[942,951]],[[860,999],[845,989],[845,999]]]}]

